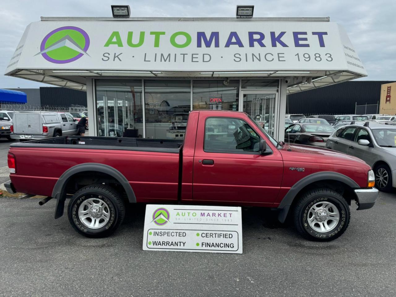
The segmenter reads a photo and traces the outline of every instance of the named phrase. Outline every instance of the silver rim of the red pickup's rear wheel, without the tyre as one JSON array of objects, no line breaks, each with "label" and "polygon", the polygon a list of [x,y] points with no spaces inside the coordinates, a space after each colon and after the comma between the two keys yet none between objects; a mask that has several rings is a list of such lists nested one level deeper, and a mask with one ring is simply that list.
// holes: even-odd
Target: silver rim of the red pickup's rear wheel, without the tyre
[{"label": "silver rim of the red pickup's rear wheel, without the tyre", "polygon": [[78,217],[88,228],[102,228],[110,219],[109,206],[99,198],[89,198],[78,208]]}]

